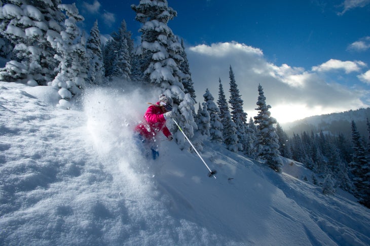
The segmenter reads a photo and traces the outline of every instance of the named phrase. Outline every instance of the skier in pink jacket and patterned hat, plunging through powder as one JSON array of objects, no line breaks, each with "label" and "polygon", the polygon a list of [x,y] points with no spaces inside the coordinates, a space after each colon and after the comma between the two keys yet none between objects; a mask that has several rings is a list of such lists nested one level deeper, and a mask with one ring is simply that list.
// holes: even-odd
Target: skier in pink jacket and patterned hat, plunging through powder
[{"label": "skier in pink jacket and patterned hat, plunging through powder", "polygon": [[156,159],[159,156],[158,144],[156,144],[156,135],[160,131],[169,141],[173,139],[172,134],[166,127],[166,120],[174,116],[172,111],[172,99],[164,94],[159,96],[156,104],[150,103],[144,114],[143,121],[136,126],[135,132],[141,143],[152,150],[152,157]]}]

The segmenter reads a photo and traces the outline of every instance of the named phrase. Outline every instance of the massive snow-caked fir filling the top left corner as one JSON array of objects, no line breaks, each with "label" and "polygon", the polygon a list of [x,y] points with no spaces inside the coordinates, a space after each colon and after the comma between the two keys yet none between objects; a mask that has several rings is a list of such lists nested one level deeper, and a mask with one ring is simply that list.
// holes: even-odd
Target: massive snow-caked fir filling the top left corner
[{"label": "massive snow-caked fir filling the top left corner", "polygon": [[63,15],[57,10],[59,3],[9,0],[1,7],[1,36],[14,47],[13,60],[1,70],[1,79],[46,85],[55,76],[55,50],[48,42],[47,33],[49,29],[60,28]]}]

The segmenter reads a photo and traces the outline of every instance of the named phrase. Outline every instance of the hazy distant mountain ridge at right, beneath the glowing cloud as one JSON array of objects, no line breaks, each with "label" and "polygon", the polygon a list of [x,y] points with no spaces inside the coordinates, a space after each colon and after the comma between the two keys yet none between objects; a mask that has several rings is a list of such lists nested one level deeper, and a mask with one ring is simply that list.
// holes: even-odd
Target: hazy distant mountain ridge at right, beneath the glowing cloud
[{"label": "hazy distant mountain ridge at right, beneath the glowing cloud", "polygon": [[360,134],[367,139],[366,118],[370,118],[370,108],[315,115],[280,125],[288,136],[303,132],[311,133],[313,131],[318,133],[323,131],[334,135],[343,133],[347,138],[350,138],[352,134],[351,121],[354,120]]}]

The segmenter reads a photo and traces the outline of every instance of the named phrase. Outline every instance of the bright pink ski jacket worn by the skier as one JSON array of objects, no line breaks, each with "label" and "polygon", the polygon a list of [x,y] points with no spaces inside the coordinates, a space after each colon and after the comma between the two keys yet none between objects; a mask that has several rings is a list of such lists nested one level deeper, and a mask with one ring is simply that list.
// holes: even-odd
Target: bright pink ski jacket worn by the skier
[{"label": "bright pink ski jacket worn by the skier", "polygon": [[[157,105],[159,105],[159,102],[157,102]],[[146,109],[143,122],[135,128],[135,131],[146,139],[154,138],[160,131],[162,131],[166,137],[171,135],[165,125],[166,119],[163,116],[161,107],[157,105],[149,106],[149,108]]]}]

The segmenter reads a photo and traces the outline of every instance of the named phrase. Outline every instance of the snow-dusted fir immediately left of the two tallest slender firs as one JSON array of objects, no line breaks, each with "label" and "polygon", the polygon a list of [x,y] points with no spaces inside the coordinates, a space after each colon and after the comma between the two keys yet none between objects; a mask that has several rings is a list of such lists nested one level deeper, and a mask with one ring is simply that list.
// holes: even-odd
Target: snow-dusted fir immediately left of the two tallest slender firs
[{"label": "snow-dusted fir immediately left of the two tallest slender firs", "polygon": [[218,116],[220,111],[217,105],[214,103],[214,97],[209,92],[208,88],[206,89],[206,93],[203,95],[204,101],[207,105],[207,110],[210,116],[210,137],[211,141],[222,143],[224,142],[222,131],[224,129],[223,124],[221,123],[221,119]]}]

